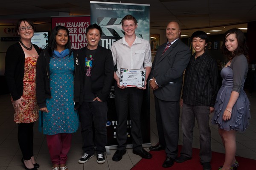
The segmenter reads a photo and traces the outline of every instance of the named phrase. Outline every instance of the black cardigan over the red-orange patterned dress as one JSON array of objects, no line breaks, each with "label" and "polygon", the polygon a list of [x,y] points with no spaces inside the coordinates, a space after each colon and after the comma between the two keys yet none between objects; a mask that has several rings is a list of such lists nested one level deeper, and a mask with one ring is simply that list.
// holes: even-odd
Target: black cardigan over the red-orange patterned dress
[{"label": "black cardigan over the red-orange patterned dress", "polygon": [[[33,44],[35,50],[40,54],[41,50]],[[13,100],[20,99],[23,95],[23,78],[25,68],[25,54],[19,42],[11,45],[6,51],[5,78],[9,92]]]}]

